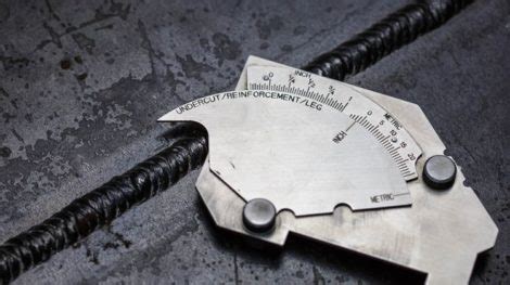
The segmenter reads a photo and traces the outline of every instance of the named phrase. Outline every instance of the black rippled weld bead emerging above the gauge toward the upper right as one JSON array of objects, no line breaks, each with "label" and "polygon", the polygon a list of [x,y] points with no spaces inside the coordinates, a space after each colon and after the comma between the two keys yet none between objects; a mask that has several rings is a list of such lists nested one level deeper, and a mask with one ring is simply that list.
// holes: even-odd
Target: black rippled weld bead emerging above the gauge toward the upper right
[{"label": "black rippled weld bead emerging above the gauge toward the upper right", "polygon": [[404,7],[307,64],[304,69],[344,80],[437,28],[473,0],[436,0]]}]

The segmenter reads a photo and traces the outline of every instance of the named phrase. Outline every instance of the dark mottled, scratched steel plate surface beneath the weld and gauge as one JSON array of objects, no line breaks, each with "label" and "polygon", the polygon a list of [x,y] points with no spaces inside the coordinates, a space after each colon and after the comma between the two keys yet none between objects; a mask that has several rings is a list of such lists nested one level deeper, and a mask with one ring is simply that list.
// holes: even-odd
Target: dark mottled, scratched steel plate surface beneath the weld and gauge
[{"label": "dark mottled, scratched steel plate surface beneath the weld and gauge", "polygon": [[[164,147],[155,119],[231,88],[248,54],[301,66],[407,2],[0,0],[0,241]],[[473,284],[510,283],[509,47],[509,1],[477,1],[348,79],[420,104],[498,224]],[[254,249],[214,226],[196,176],[16,283],[423,281],[298,237]]]}]

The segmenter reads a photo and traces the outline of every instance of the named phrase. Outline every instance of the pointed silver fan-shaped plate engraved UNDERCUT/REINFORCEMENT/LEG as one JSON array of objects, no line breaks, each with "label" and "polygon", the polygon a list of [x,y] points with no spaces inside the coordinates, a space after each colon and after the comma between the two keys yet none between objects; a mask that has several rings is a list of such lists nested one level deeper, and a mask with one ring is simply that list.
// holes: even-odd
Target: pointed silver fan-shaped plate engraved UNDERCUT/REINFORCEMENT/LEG
[{"label": "pointed silver fan-shaped plate engraved UNDERCUT/REINFORCEMENT/LEG", "polygon": [[[298,116],[296,116],[298,114]],[[390,153],[370,132],[303,95],[244,90],[213,94],[165,115],[209,133],[209,168],[245,200],[296,216],[411,204]]]}]

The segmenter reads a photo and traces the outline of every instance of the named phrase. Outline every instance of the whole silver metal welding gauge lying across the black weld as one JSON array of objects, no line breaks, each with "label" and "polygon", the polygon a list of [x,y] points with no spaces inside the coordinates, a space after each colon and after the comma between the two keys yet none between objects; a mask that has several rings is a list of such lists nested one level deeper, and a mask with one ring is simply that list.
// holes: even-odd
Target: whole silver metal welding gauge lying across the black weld
[{"label": "whole silver metal welding gauge lying across the black weld", "polygon": [[196,189],[218,226],[290,232],[466,284],[497,228],[416,104],[250,56],[235,91],[160,121],[196,121]]}]

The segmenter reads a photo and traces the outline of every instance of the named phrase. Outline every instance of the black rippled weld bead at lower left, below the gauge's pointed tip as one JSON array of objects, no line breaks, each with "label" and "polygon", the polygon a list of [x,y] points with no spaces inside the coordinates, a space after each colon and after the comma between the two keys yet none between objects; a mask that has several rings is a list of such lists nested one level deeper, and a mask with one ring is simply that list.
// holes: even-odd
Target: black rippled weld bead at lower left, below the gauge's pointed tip
[{"label": "black rippled weld bead at lower left, below the gauge's pointed tip", "polygon": [[205,137],[179,140],[126,173],[75,199],[61,211],[0,246],[0,283],[9,283],[75,244],[127,209],[173,185],[207,156]]}]

